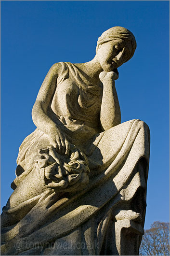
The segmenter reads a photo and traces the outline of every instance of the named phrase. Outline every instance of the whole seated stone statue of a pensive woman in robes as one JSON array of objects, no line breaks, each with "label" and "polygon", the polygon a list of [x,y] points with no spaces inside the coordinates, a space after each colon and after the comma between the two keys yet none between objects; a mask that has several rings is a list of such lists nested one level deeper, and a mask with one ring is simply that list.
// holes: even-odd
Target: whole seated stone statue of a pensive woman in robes
[{"label": "whole seated stone statue of a pensive woman in robes", "polygon": [[121,123],[115,88],[135,48],[113,27],[91,61],[51,67],[3,207],[1,255],[138,255],[150,133],[141,120]]}]

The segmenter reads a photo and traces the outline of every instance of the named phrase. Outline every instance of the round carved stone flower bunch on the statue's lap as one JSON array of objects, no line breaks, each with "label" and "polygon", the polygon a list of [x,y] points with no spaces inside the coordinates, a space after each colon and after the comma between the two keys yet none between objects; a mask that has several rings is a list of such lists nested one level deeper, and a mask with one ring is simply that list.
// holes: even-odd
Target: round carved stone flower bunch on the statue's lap
[{"label": "round carved stone flower bunch on the statue's lap", "polygon": [[39,151],[36,169],[43,184],[52,189],[81,190],[89,183],[87,158],[74,146],[70,156],[60,156],[54,149]]}]

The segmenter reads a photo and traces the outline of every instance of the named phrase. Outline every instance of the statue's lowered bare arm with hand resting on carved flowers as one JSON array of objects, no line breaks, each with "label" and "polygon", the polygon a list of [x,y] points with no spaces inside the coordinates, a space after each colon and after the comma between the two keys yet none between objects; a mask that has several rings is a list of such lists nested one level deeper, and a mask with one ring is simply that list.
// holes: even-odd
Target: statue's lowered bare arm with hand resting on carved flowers
[{"label": "statue's lowered bare arm with hand resting on carved flowers", "polygon": [[48,108],[55,93],[59,71],[60,64],[55,63],[46,75],[32,109],[32,119],[41,131],[49,135],[50,142],[56,150],[61,154],[67,154],[69,144],[60,128],[48,116]]}]

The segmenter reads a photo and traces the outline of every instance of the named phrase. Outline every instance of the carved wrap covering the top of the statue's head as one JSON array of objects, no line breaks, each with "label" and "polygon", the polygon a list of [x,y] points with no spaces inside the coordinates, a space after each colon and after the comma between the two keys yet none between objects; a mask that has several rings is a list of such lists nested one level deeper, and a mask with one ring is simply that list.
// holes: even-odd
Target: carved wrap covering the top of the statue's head
[{"label": "carved wrap covering the top of the statue's head", "polygon": [[134,35],[127,28],[113,27],[103,32],[97,41],[96,53],[98,51],[99,45],[118,39],[131,42],[131,56],[126,60],[128,61],[129,59],[131,59],[136,49],[136,40]]}]

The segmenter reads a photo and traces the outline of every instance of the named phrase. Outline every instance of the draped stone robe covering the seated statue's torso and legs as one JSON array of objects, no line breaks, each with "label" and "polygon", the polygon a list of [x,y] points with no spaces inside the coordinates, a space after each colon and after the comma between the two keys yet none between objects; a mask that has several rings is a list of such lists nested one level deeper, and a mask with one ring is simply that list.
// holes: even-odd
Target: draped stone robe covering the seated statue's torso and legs
[{"label": "draped stone robe covering the seated statue's torso and legs", "polygon": [[14,192],[1,215],[1,254],[119,255],[116,216],[121,210],[140,213],[141,220],[134,224],[142,230],[135,236],[138,253],[146,207],[149,128],[134,119],[102,131],[102,83],[94,85],[74,64],[61,64],[48,115],[83,152],[89,183],[70,192],[42,185],[34,169],[35,156],[49,146],[49,137],[39,128],[27,136],[17,158]]}]

